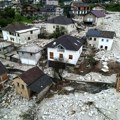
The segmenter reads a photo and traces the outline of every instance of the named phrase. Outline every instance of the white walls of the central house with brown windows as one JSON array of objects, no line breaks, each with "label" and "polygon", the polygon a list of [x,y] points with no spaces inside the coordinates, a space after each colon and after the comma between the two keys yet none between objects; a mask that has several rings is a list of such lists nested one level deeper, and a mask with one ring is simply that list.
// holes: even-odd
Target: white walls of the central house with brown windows
[{"label": "white walls of the central house with brown windows", "polygon": [[[50,52],[54,53],[54,59],[50,58]],[[64,61],[62,62],[76,65],[81,55],[81,52],[82,52],[82,47],[78,51],[65,50],[64,52],[59,52],[57,48],[48,48],[47,56],[48,56],[48,60],[50,61],[56,61],[56,60],[59,61],[59,54],[63,54]],[[69,55],[73,55],[73,59],[69,59]]]}]

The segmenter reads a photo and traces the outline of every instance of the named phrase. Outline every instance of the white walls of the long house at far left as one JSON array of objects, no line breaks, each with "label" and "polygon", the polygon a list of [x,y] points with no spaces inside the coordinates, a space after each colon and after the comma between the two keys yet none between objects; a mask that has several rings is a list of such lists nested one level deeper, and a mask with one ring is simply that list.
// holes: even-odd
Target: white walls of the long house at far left
[{"label": "white walls of the long house at far left", "polygon": [[[30,31],[32,31],[32,30],[30,30]],[[3,34],[4,40],[11,41],[13,43],[18,43],[18,44],[25,44],[25,43],[27,43],[27,41],[29,41],[28,37],[30,37],[30,40],[35,40],[35,39],[38,39],[38,34],[40,34],[39,29],[33,30],[32,34],[30,31],[15,32],[14,35],[10,35],[10,33],[8,31],[3,30],[2,34]],[[18,34],[19,34],[19,36],[18,36]]]}]

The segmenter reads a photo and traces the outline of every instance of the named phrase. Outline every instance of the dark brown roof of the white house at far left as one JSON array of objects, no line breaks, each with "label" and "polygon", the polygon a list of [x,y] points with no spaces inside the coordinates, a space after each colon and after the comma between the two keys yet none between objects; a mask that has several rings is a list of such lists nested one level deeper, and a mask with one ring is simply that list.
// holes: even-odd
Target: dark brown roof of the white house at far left
[{"label": "dark brown roof of the white house at far left", "polygon": [[14,24],[8,24],[6,27],[4,27],[2,30],[9,31],[9,32],[16,32],[19,30],[25,30],[30,29],[32,26],[25,25],[22,23],[14,23]]}]

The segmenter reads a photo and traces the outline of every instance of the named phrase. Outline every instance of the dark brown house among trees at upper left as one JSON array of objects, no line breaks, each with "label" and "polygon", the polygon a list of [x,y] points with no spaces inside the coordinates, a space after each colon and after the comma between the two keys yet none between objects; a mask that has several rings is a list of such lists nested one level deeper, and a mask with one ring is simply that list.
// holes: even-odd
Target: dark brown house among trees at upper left
[{"label": "dark brown house among trees at upper left", "polygon": [[22,14],[28,17],[38,16],[39,11],[38,7],[32,4],[25,4],[22,6]]}]

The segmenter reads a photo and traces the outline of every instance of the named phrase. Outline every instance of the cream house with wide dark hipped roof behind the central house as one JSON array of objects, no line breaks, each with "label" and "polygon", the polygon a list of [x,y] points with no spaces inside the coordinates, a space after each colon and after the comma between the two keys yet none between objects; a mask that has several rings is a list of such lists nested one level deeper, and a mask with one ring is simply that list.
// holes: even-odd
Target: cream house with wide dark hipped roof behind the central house
[{"label": "cream house with wide dark hipped roof behind the central house", "polygon": [[44,26],[44,29],[48,33],[53,33],[57,27],[64,27],[68,33],[76,30],[72,19],[65,16],[57,16],[52,19],[48,19],[45,23],[42,23],[41,26]]}]

